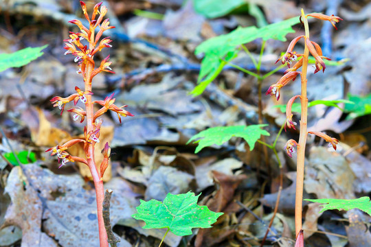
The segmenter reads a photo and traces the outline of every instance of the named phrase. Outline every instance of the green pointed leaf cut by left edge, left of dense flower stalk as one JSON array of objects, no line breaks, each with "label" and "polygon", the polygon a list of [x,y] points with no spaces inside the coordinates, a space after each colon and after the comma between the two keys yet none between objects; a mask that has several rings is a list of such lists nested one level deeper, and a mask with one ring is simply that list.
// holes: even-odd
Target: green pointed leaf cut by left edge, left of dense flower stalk
[{"label": "green pointed leaf cut by left edge, left of dense flower stalk", "polygon": [[21,67],[32,60],[43,56],[44,53],[42,50],[45,49],[45,47],[47,47],[47,45],[34,48],[27,47],[13,52],[12,54],[0,54],[0,72],[12,67]]}]

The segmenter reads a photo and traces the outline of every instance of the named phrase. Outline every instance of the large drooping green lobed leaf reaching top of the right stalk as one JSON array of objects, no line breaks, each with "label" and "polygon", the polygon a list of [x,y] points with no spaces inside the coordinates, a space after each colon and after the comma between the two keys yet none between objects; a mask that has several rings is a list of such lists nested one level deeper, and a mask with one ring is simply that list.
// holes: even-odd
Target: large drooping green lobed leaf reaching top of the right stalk
[{"label": "large drooping green lobed leaf reaching top of the right stalk", "polygon": [[[195,51],[196,55],[204,54],[198,78],[199,84],[203,83],[202,89],[204,90],[221,73],[227,62],[231,62],[237,57],[240,45],[254,41],[257,38],[286,41],[286,34],[295,32],[292,26],[299,22],[299,17],[294,17],[261,28],[255,26],[238,27],[229,34],[205,40]],[[202,89],[192,91],[192,94],[200,95],[203,92]]]}]

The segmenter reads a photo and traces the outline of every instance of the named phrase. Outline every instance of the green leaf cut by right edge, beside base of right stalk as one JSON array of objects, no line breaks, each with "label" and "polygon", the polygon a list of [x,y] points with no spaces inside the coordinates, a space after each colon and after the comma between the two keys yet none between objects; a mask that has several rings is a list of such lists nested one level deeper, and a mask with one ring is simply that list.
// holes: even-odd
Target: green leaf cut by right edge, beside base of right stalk
[{"label": "green leaf cut by right edge, beside base of right stalk", "polygon": [[343,200],[343,199],[304,199],[309,202],[319,202],[324,203],[321,205],[322,209],[319,213],[323,211],[330,210],[330,209],[337,209],[337,210],[350,210],[350,209],[360,209],[361,211],[368,213],[371,215],[371,203],[370,198],[368,196],[363,196],[358,199],[352,200]]}]

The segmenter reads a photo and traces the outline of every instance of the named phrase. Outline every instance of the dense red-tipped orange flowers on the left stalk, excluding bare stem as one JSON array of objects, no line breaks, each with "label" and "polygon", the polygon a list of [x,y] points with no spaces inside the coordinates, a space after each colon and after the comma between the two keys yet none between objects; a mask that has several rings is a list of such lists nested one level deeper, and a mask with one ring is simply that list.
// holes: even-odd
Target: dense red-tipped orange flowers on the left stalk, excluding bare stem
[{"label": "dense red-tipped orange flowers on the left stalk, excluding bare stem", "polygon": [[[92,65],[94,68],[95,62],[93,60],[93,56],[98,52],[101,51],[105,47],[112,47],[109,43],[111,43],[112,40],[109,39],[109,37],[100,38],[102,37],[102,34],[105,30],[109,30],[111,28],[114,28],[113,26],[109,26],[109,19],[105,19],[103,22],[103,17],[107,12],[106,6],[102,5],[102,3],[98,3],[94,6],[93,14],[91,16],[91,19],[89,19],[89,15],[87,14],[87,6],[84,2],[80,1],[82,6],[82,11],[85,14],[85,18],[87,21],[89,21],[90,25],[89,28],[82,25],[81,21],[79,20],[72,20],[69,21],[70,23],[76,24],[80,28],[80,32],[70,32],[69,38],[64,40],[65,43],[65,49],[67,50],[65,52],[65,55],[72,54],[75,56],[75,62],[78,63],[78,71],[76,73],[81,74],[82,78],[85,82],[85,84],[91,84],[91,80],[95,75],[98,73],[101,73],[103,71],[109,72],[109,73],[115,73],[111,69],[111,62],[109,62],[109,56],[104,58],[102,62],[100,62],[100,67],[93,69],[93,71],[89,70],[89,65]],[[98,19],[95,20],[95,16],[99,14]],[[94,36],[95,28],[99,27],[100,31],[98,34]],[[87,45],[84,45],[84,41],[87,40]],[[98,46],[97,46],[98,45]],[[100,104],[102,108],[98,110],[93,115],[93,122],[92,130],[87,130],[87,126],[84,128],[84,135],[85,139],[74,139],[71,141],[68,141],[67,143],[63,145],[57,145],[56,147],[49,148],[47,152],[52,151],[52,155],[57,154],[58,159],[61,160],[61,166],[65,165],[67,162],[81,162],[87,164],[87,160],[85,158],[79,158],[76,156],[71,156],[67,150],[67,148],[70,148],[72,145],[76,143],[83,142],[84,143],[84,149],[87,153],[89,145],[95,145],[95,143],[99,143],[99,134],[100,134],[100,126],[102,125],[102,119],[99,119],[102,114],[106,113],[107,110],[113,110],[115,113],[117,113],[120,123],[121,123],[121,116],[133,116],[131,113],[129,113],[126,110],[123,110],[122,108],[126,106],[117,107],[115,104],[115,99],[113,98],[113,94],[109,97],[106,97],[104,101],[98,100],[91,102],[92,104],[88,104],[87,96],[93,95],[90,90],[82,91],[78,88],[78,86],[75,86],[76,93],[69,95],[68,97],[60,97],[56,96],[51,99],[52,104],[54,104],[54,107],[58,106],[58,108],[61,110],[60,115],[62,115],[63,110],[65,109],[65,105],[69,102],[74,102],[74,105],[80,101],[83,104],[85,104],[85,108],[93,107],[92,104]],[[74,121],[78,121],[80,119],[80,123],[85,120],[85,117],[87,116],[87,111],[83,108],[77,107],[77,108],[71,108],[67,110],[70,113],[74,113],[73,119]],[[104,148],[104,153],[109,152],[109,145],[106,143],[106,146]],[[102,167],[102,165],[101,165]],[[104,166],[103,166],[104,167]],[[104,170],[101,172],[100,176],[102,177],[104,173]]]}]

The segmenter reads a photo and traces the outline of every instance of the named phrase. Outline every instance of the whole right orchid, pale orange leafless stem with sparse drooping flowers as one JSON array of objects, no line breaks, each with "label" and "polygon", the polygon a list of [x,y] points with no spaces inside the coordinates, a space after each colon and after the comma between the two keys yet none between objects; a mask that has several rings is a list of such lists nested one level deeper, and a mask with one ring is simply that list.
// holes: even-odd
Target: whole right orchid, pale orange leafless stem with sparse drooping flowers
[{"label": "whole right orchid, pale orange leafless stem with sparse drooping flowers", "polygon": [[[290,139],[287,141],[285,149],[287,154],[292,157],[293,152],[295,152],[295,147],[297,147],[297,180],[296,180],[296,196],[295,196],[295,233],[296,233],[296,244],[295,246],[304,246],[304,235],[302,230],[302,200],[303,200],[303,183],[304,183],[304,155],[305,155],[305,145],[306,145],[306,137],[308,133],[315,134],[318,137],[322,137],[325,141],[328,141],[331,146],[336,150],[336,145],[339,143],[337,139],[329,137],[327,134],[322,132],[307,132],[307,115],[308,115],[308,98],[306,97],[306,71],[308,69],[308,56],[309,52],[315,58],[315,72],[324,71],[326,69],[326,65],[324,64],[324,60],[330,60],[330,58],[326,58],[322,56],[322,49],[319,45],[309,39],[309,27],[308,27],[308,16],[315,17],[317,19],[321,19],[324,21],[330,21],[333,26],[342,20],[338,16],[327,16],[324,14],[304,14],[304,10],[302,10],[302,15],[300,19],[304,24],[305,35],[298,36],[294,38],[286,53],[277,60],[282,60],[282,64],[287,64],[289,69],[285,71],[285,75],[272,86],[269,87],[267,94],[274,95],[277,99],[280,98],[280,89],[282,86],[288,84],[291,80],[295,80],[297,75],[301,76],[301,84],[302,84],[302,93],[301,95],[296,95],[292,97],[286,106],[286,127],[287,128],[294,128],[296,123],[293,122],[293,114],[291,113],[291,107],[295,99],[300,98],[300,102],[302,105],[302,113],[300,119],[300,137],[299,143],[295,140]],[[336,27],[335,27],[336,28]],[[304,54],[297,54],[296,51],[293,51],[297,41],[301,38],[304,38]],[[300,58],[292,68],[290,68],[290,64],[293,60]],[[302,67],[302,71],[298,72],[297,69]]]}]

